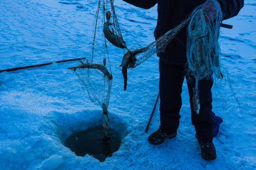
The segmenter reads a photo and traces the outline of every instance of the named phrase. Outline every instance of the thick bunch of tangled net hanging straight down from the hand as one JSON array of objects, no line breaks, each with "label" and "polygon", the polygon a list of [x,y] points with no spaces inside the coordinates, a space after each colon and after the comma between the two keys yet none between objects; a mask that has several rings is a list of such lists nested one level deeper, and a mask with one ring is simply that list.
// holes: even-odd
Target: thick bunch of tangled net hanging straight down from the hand
[{"label": "thick bunch of tangled net hanging straight down from the hand", "polygon": [[[205,19],[204,5],[194,9],[187,28],[187,71],[195,77],[196,87],[198,80],[212,78],[212,74],[222,78],[219,61],[219,27],[222,13],[219,2],[210,0],[216,9],[216,18],[213,21]],[[211,16],[210,16],[211,17]]]}]

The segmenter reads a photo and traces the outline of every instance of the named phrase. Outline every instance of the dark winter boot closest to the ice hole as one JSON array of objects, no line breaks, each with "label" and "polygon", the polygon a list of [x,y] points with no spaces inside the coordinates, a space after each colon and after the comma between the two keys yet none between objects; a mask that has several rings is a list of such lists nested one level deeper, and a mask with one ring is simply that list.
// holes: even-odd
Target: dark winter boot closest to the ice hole
[{"label": "dark winter boot closest to the ice hole", "polygon": [[174,138],[177,135],[177,132],[175,132],[172,135],[167,135],[165,132],[163,132],[162,129],[157,129],[155,132],[153,132],[150,136],[148,136],[148,141],[151,144],[162,144],[166,138]]}]

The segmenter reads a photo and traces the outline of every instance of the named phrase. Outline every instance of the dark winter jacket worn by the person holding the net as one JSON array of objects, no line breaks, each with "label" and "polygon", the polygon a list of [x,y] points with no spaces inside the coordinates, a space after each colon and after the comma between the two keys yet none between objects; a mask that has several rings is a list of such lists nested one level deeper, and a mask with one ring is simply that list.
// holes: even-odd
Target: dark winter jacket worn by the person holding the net
[{"label": "dark winter jacket worn by the person holding the net", "polygon": [[[139,8],[151,8],[157,3],[158,19],[155,28],[155,39],[177,26],[192,12],[193,8],[205,0],[124,0]],[[244,0],[218,0],[223,12],[223,20],[234,17],[244,6]],[[186,63],[186,28],[183,28],[176,39],[170,42],[165,53],[157,54],[169,64],[183,65]]]}]

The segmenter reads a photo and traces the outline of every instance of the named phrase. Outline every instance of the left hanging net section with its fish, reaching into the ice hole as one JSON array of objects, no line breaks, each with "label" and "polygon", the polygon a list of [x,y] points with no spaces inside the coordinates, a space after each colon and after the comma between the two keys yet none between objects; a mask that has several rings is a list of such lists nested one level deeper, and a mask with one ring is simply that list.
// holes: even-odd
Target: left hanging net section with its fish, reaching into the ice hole
[{"label": "left hanging net section with its fish, reaching into the ice hole", "polygon": [[108,106],[112,85],[112,73],[107,49],[107,40],[119,48],[127,48],[123,41],[113,0],[99,0],[91,34],[90,56],[71,67],[78,76],[82,88],[92,102],[98,102],[103,110],[104,131],[110,129]]}]

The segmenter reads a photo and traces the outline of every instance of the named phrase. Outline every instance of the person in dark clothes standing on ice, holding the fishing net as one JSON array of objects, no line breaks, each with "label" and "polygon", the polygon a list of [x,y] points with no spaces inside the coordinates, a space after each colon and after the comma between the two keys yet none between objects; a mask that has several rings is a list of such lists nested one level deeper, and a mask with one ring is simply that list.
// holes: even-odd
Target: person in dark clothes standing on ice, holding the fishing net
[{"label": "person in dark clothes standing on ice, holding the fishing net", "polygon": [[[198,5],[204,4],[205,19],[211,22],[216,18],[216,4],[213,0],[124,0],[139,8],[151,8],[157,3],[157,26],[155,39],[164,35],[174,26],[179,25]],[[217,0],[223,13],[223,20],[234,17],[244,6],[244,0]],[[192,96],[195,87],[194,77],[185,73],[186,59],[186,28],[183,28],[176,38],[171,41],[164,53],[158,53],[159,59],[159,93],[160,93],[160,126],[149,137],[151,144],[161,144],[166,138],[173,138],[179,127],[179,112],[182,106],[182,85],[186,76],[190,96],[191,119],[195,127],[196,138],[201,145],[201,155],[205,160],[216,159],[216,150],[212,142],[214,117],[212,115],[211,87],[213,81],[202,79],[199,81],[200,112],[193,110]]]}]

